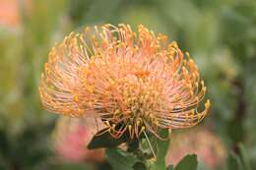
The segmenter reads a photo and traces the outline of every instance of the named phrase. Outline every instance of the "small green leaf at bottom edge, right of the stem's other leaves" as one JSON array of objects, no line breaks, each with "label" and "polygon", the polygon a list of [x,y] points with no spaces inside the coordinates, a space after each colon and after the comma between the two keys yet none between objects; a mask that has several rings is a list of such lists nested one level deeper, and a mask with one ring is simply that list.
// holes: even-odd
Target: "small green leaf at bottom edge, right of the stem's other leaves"
[{"label": "small green leaf at bottom edge, right of the stem's other leaves", "polygon": [[174,170],[196,170],[197,169],[197,155],[188,154],[182,158]]}]

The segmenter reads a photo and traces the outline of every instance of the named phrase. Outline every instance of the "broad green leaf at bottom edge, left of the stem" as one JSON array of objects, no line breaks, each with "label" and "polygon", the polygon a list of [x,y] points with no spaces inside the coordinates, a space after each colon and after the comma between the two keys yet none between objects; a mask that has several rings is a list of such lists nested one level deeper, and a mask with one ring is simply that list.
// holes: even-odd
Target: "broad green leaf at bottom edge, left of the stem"
[{"label": "broad green leaf at bottom edge, left of the stem", "polygon": [[106,159],[113,170],[133,170],[133,166],[139,160],[132,154],[119,148],[107,148]]}]

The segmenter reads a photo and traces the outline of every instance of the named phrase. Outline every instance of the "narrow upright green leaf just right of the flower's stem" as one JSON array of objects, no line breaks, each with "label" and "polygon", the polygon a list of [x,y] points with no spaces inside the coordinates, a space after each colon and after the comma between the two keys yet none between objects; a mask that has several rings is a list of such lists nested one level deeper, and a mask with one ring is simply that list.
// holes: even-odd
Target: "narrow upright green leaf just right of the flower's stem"
[{"label": "narrow upright green leaf just right of the flower's stem", "polygon": [[[161,138],[167,139],[168,131],[160,129],[159,135]],[[153,170],[164,170],[164,169],[166,169],[165,155],[168,150],[169,140],[162,141],[162,140],[158,139],[157,144],[158,144],[158,152],[156,153],[157,161],[154,162],[154,164],[152,165],[152,169]]]}]

